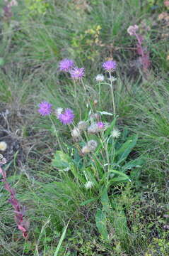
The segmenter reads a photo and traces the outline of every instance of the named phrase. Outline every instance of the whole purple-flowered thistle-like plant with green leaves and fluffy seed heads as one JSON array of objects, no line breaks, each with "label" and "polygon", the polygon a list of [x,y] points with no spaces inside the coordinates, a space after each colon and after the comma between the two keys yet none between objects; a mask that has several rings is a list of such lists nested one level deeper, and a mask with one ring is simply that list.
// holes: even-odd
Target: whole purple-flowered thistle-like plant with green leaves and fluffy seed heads
[{"label": "whole purple-flowered thistle-like plant with green leaves and fluffy seed heads", "polygon": [[[68,60],[66,59],[66,63],[63,60],[59,63],[60,67],[62,64],[62,70],[61,68],[60,70],[70,73],[70,78],[73,78],[72,80],[75,83],[81,82],[85,90],[86,87],[83,83],[84,68],[71,66],[68,69],[68,64],[74,63]],[[83,193],[86,193],[89,197],[86,201],[81,202],[81,206],[93,201],[100,201],[103,205],[103,208],[96,212],[95,222],[99,232],[105,239],[107,239],[106,223],[101,227],[99,223],[100,221],[105,222],[106,209],[110,207],[108,194],[111,194],[110,191],[113,191],[117,184],[134,181],[134,174],[138,172],[136,170],[142,164],[141,158],[133,159],[130,155],[136,145],[136,134],[129,136],[127,130],[121,132],[120,130],[122,129],[117,128],[113,86],[113,82],[117,79],[112,76],[112,72],[115,73],[116,67],[115,60],[105,61],[103,68],[109,74],[109,82],[104,82],[103,75],[98,75],[97,79],[95,78],[99,86],[101,83],[110,85],[112,113],[93,110],[89,99],[88,107],[90,107],[90,110],[88,111],[88,116],[83,120],[78,120],[78,122],[76,121],[76,114],[69,108],[64,110],[62,107],[57,107],[56,110],[52,110],[52,105],[49,102],[42,102],[38,110],[40,114],[49,116],[55,131],[57,131],[57,123],[54,118],[57,118],[60,123],[69,128],[72,144],[61,144],[57,136],[59,150],[54,153],[52,166],[59,171],[59,176],[63,181],[62,193],[64,193],[64,188],[66,193],[66,182],[76,182],[81,191],[86,191]],[[75,75],[78,75],[78,80],[76,80]],[[100,92],[101,89],[99,87],[99,103]],[[110,116],[112,120],[108,122],[107,117]]]}]

